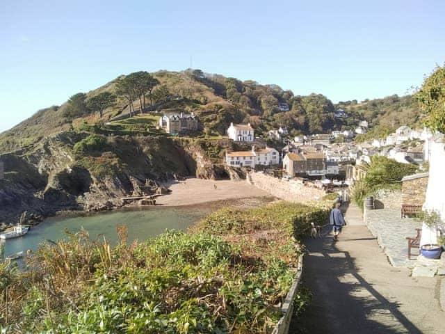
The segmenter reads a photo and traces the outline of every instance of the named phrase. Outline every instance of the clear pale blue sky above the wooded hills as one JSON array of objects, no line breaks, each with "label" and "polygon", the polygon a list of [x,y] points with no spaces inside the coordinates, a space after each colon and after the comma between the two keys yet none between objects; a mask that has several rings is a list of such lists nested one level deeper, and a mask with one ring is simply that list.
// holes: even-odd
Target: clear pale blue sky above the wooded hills
[{"label": "clear pale blue sky above the wooded hills", "polygon": [[332,101],[407,93],[445,61],[445,1],[0,0],[0,132],[136,70]]}]

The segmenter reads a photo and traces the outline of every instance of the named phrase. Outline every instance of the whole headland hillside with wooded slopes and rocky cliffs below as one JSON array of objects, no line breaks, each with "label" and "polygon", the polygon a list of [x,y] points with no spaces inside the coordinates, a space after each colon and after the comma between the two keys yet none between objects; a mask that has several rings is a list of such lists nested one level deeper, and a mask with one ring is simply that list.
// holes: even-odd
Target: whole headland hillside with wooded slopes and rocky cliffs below
[{"label": "whole headland hillside with wooded slopes and rocky cliffs below", "polygon": [[[104,92],[117,93],[131,75],[73,95],[0,134],[6,171],[0,180],[0,221],[17,221],[24,210],[38,219],[59,210],[120,207],[120,198],[155,193],[159,181],[175,177],[239,177],[239,170],[224,166],[224,152],[250,147],[223,137],[230,122],[251,122],[256,136],[266,139],[268,129],[280,126],[291,135],[311,134],[355,127],[366,119],[372,134],[420,118],[410,96],[334,105],[323,95],[293,95],[276,85],[200,70],[156,72],[149,76],[156,83],[152,93],[131,101],[118,95],[102,117],[90,109],[89,101]],[[143,100],[147,104],[141,114]],[[338,108],[348,118],[335,118]],[[124,117],[131,111],[133,117]],[[181,111],[195,113],[202,131],[176,137],[156,128],[162,113]]]}]

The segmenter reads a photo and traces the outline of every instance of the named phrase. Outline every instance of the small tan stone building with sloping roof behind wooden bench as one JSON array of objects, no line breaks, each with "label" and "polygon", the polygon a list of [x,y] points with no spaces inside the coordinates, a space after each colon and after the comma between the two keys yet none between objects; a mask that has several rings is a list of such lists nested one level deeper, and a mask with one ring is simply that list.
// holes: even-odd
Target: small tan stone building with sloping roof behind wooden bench
[{"label": "small tan stone building with sloping roof behind wooden bench", "polygon": [[428,173],[408,175],[402,179],[402,204],[423,205],[428,186]]}]

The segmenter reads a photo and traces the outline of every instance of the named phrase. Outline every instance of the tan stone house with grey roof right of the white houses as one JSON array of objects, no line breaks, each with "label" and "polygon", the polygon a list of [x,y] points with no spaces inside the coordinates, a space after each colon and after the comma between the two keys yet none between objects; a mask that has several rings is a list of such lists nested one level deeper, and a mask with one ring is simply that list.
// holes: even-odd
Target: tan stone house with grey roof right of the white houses
[{"label": "tan stone house with grey roof right of the white houses", "polygon": [[288,153],[283,168],[291,176],[321,176],[326,174],[326,158],[321,152]]}]

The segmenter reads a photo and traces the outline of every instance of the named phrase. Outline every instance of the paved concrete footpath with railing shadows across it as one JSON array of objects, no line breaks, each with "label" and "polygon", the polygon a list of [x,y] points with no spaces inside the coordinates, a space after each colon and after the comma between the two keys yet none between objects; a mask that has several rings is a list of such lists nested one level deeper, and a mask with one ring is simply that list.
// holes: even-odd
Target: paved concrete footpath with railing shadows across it
[{"label": "paved concrete footpath with railing shadows across it", "polygon": [[345,218],[339,241],[326,229],[306,243],[303,284],[312,303],[289,333],[445,333],[440,280],[392,267],[358,207]]}]

